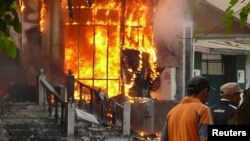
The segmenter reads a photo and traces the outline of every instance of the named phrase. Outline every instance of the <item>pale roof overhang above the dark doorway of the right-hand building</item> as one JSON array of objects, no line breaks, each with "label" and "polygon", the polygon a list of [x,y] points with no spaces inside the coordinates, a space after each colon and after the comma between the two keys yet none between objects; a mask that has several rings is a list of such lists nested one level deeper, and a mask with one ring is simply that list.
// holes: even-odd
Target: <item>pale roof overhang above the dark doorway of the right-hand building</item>
[{"label": "pale roof overhang above the dark doorway of the right-hand building", "polygon": [[234,41],[198,40],[195,42],[195,51],[211,54],[247,55],[250,54],[249,44]]}]

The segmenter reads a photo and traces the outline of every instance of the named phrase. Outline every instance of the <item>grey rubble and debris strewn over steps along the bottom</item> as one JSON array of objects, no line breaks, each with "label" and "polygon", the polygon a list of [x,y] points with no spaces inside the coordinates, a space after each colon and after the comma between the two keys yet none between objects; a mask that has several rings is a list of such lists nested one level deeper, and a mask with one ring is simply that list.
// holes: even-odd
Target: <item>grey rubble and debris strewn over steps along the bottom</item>
[{"label": "grey rubble and debris strewn over steps along the bottom", "polygon": [[[132,106],[133,109],[134,106]],[[137,105],[135,109],[140,108]],[[158,140],[155,134],[141,135],[133,129],[130,129],[129,135],[124,135],[122,121],[120,120],[117,120],[114,125],[112,121],[100,119],[85,110],[75,108],[75,112],[74,136],[71,137],[66,134],[66,125],[60,124],[62,122],[60,118],[56,120],[54,117],[55,113],[49,114],[48,107],[31,102],[7,102],[7,104],[1,105],[0,141]],[[132,117],[134,120],[135,117]],[[143,119],[143,117],[139,118]]]}]

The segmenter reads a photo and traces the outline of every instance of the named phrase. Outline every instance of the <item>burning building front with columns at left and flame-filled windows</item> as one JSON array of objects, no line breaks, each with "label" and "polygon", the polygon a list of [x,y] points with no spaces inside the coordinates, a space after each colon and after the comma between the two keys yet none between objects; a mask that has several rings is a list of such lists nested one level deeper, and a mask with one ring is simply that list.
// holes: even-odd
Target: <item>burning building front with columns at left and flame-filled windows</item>
[{"label": "burning building front with columns at left and flame-filled windows", "polygon": [[79,81],[101,88],[109,97],[127,95],[136,75],[145,85],[156,79],[156,1],[18,2],[23,32],[15,38],[24,79],[32,81],[44,68],[51,81],[64,83],[71,69]]}]

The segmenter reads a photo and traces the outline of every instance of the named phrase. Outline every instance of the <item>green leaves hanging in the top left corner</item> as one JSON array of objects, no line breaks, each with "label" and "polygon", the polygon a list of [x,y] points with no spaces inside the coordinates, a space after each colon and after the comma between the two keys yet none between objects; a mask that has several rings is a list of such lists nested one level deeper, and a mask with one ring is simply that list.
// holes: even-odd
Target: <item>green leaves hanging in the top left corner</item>
[{"label": "green leaves hanging in the top left corner", "polygon": [[10,37],[10,29],[21,33],[22,25],[16,11],[15,0],[0,0],[0,51],[10,58],[16,57],[16,45]]}]

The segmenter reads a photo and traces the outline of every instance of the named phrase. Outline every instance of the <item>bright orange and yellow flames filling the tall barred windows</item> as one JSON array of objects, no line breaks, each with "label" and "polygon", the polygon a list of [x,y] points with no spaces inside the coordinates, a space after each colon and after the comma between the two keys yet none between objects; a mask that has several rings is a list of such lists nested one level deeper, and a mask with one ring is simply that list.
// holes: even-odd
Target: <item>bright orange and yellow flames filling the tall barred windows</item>
[{"label": "bright orange and yellow flames filling the tall barred windows", "polygon": [[[150,68],[153,68],[153,71],[155,68],[153,2],[151,0],[95,1],[91,7],[86,1],[71,2],[73,18],[69,17],[67,0],[62,1],[65,74],[69,69],[73,70],[76,79],[90,87],[101,88],[109,97],[121,94],[123,92],[121,86],[124,84],[125,95],[128,95],[133,82],[125,82],[123,78],[125,76],[121,73],[124,69],[121,68],[122,50],[135,49],[147,52],[150,55]],[[125,7],[123,2],[126,4]],[[125,8],[124,13],[123,8]],[[45,6],[42,4],[41,30],[44,28],[42,26],[44,13]],[[125,17],[124,22],[121,17]],[[150,75],[152,78],[157,76],[156,72]],[[75,97],[79,97],[79,92],[75,92]]]}]

